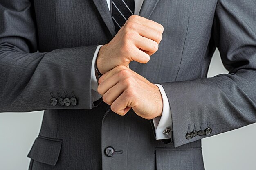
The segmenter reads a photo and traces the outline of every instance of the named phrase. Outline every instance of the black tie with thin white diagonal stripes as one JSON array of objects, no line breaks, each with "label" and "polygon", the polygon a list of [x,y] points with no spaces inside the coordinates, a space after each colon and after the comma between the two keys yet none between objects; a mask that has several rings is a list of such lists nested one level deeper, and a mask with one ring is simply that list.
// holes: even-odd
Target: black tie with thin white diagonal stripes
[{"label": "black tie with thin white diagonal stripes", "polygon": [[131,15],[134,15],[134,0],[112,0],[112,20],[116,33]]}]

